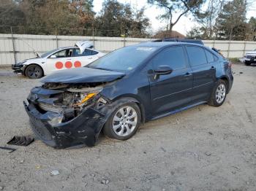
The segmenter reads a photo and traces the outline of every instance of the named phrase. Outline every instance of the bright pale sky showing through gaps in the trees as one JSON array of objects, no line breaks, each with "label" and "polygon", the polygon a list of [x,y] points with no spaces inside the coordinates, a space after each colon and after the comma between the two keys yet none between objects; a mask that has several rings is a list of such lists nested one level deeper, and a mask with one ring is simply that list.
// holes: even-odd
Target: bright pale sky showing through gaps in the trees
[{"label": "bright pale sky showing through gaps in the trees", "polygon": [[[94,11],[99,12],[102,9],[102,2],[104,0],[94,0]],[[160,22],[156,19],[157,15],[161,13],[161,9],[150,6],[146,2],[147,0],[118,0],[121,3],[132,4],[132,7],[140,9],[146,7],[145,15],[149,18],[151,22],[151,28],[153,31],[157,31],[159,28],[166,26],[165,22]],[[252,0],[252,3],[249,6],[246,17],[256,16],[256,1]],[[190,17],[181,17],[176,26],[173,27],[173,30],[180,32],[181,34],[187,34],[193,26],[196,26],[196,23]]]}]

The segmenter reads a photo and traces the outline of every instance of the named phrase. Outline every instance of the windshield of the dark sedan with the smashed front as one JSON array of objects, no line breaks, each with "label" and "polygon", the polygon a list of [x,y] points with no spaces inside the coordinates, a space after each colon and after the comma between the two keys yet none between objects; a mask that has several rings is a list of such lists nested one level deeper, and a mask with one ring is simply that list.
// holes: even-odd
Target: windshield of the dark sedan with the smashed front
[{"label": "windshield of the dark sedan with the smashed front", "polygon": [[143,45],[141,47],[123,47],[110,52],[86,67],[129,73],[156,49],[157,47],[143,47]]}]

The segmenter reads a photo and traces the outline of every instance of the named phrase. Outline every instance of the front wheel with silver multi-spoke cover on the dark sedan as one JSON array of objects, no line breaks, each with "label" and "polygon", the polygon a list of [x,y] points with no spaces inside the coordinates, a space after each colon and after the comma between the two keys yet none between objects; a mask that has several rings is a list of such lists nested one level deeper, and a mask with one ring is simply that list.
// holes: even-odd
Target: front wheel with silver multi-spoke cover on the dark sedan
[{"label": "front wheel with silver multi-spoke cover on the dark sedan", "polygon": [[111,139],[127,140],[140,126],[140,108],[134,102],[121,104],[110,114],[103,133]]}]

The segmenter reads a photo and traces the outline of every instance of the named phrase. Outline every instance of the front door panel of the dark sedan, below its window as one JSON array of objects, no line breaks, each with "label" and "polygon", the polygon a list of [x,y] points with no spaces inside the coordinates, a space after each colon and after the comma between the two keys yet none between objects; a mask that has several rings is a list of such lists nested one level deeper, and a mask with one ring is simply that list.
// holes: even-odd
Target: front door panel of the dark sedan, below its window
[{"label": "front door panel of the dark sedan, below its window", "polygon": [[193,78],[190,72],[189,68],[184,68],[161,75],[159,79],[154,79],[155,74],[149,76],[154,116],[181,108],[191,102]]}]

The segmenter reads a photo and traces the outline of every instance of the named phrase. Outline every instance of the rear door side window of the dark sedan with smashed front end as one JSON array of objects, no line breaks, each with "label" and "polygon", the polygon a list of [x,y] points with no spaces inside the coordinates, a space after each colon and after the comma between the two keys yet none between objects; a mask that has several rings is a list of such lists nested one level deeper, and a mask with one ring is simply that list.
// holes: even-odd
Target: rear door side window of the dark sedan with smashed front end
[{"label": "rear door side window of the dark sedan with smashed front end", "polygon": [[191,66],[197,66],[201,64],[206,64],[206,53],[201,47],[186,46],[187,55],[189,56],[189,63]]}]

